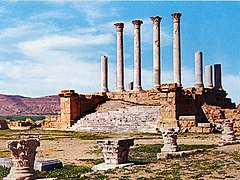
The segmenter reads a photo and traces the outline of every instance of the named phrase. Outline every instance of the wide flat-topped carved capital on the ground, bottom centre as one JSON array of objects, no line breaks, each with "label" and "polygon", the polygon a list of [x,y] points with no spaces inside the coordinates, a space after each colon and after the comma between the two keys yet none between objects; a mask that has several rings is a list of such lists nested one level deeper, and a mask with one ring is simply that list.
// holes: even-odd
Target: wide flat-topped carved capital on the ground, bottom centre
[{"label": "wide flat-topped carved capital on the ground, bottom centre", "polygon": [[102,148],[105,164],[122,164],[128,162],[128,152],[134,139],[98,140]]}]

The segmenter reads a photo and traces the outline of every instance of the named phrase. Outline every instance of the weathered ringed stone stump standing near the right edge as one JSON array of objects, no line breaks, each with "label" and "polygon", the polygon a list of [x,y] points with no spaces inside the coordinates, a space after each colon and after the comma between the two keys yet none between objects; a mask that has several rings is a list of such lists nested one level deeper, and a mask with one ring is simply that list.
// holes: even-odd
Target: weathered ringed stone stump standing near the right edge
[{"label": "weathered ringed stone stump standing near the right edge", "polygon": [[233,121],[232,120],[225,120],[223,122],[223,131],[222,131],[222,138],[221,143],[231,143],[236,140],[236,136],[233,130]]}]

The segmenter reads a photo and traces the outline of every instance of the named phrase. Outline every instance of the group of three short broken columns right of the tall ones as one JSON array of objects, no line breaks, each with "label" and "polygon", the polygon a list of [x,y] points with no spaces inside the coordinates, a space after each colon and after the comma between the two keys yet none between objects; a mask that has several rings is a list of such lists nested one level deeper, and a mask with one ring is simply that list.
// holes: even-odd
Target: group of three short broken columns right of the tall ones
[{"label": "group of three short broken columns right of the tall ones", "polygon": [[[195,83],[196,88],[204,87],[203,85],[203,60],[202,52],[197,51],[195,53]],[[221,64],[214,64],[214,85],[213,86],[213,67],[212,65],[205,66],[205,87],[212,89],[222,89],[222,75]]]}]

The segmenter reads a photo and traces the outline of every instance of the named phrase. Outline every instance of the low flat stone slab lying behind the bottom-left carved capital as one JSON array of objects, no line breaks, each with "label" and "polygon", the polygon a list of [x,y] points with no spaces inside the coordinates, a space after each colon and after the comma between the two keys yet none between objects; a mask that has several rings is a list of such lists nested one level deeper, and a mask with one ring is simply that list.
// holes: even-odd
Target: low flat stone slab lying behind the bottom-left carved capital
[{"label": "low flat stone slab lying behind the bottom-left carved capital", "polygon": [[[12,167],[13,162],[11,157],[0,158],[0,165],[5,167]],[[36,158],[34,163],[34,170],[36,171],[50,171],[53,169],[62,168],[63,164],[58,159]]]}]

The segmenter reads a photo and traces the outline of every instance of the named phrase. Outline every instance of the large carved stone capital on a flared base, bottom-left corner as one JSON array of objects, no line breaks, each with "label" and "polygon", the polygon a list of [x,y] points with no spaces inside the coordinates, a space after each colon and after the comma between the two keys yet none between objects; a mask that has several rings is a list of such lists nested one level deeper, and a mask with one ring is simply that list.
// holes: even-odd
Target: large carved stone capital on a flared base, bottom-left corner
[{"label": "large carved stone capital on a flared base, bottom-left corner", "polygon": [[36,179],[33,169],[36,149],[40,146],[38,139],[22,139],[7,142],[7,148],[13,157],[13,167],[5,180]]}]

